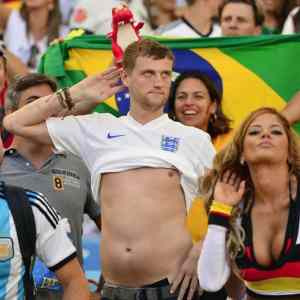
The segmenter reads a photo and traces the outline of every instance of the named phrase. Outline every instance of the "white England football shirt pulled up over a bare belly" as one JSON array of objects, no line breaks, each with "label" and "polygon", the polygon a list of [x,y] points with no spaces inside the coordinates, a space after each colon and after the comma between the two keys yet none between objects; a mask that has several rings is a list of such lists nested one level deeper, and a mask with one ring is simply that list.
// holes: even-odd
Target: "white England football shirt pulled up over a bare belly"
[{"label": "white England football shirt pulled up over a bare belly", "polygon": [[187,210],[198,194],[199,177],[211,168],[215,155],[210,136],[172,121],[166,114],[146,124],[130,115],[111,114],[50,118],[47,128],[57,150],[81,157],[92,176],[98,199],[101,175],[153,167],[180,172]]}]

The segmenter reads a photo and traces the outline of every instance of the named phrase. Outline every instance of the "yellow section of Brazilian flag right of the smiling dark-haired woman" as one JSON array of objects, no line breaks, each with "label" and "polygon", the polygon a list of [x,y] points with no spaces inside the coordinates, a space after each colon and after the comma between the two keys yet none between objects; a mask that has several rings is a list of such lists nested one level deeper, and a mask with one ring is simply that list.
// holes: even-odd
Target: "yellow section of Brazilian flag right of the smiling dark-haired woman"
[{"label": "yellow section of Brazilian flag right of the smiling dark-haired woman", "polygon": [[[224,84],[223,111],[233,121],[233,128],[257,108],[270,106],[281,110],[286,105],[261,77],[219,49],[198,48],[193,52],[207,60],[220,74]],[[247,91],[247,95],[243,91]]]}]

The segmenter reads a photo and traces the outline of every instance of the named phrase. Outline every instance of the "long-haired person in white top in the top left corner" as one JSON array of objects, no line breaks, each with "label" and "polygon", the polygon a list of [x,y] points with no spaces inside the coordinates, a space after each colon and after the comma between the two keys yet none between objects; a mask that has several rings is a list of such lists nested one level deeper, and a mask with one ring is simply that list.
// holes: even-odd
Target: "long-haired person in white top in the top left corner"
[{"label": "long-haired person in white top in the top left corner", "polygon": [[6,47],[31,70],[36,70],[50,42],[67,34],[58,0],[22,0],[20,10],[0,7]]}]

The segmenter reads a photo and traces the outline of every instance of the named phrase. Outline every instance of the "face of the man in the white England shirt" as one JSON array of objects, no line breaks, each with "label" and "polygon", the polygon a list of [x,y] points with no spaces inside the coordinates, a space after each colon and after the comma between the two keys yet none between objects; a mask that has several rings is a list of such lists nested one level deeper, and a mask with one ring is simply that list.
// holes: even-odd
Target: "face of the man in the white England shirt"
[{"label": "face of the man in the white England shirt", "polygon": [[146,111],[162,110],[169,97],[173,61],[139,56],[131,72],[124,72],[132,103]]}]

